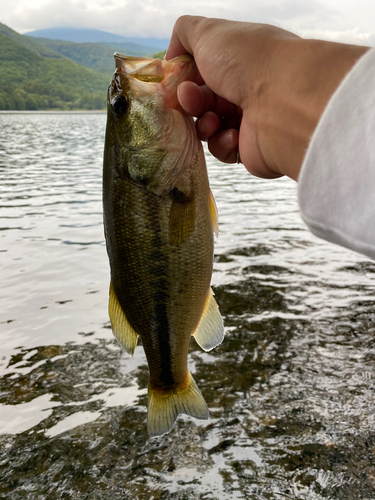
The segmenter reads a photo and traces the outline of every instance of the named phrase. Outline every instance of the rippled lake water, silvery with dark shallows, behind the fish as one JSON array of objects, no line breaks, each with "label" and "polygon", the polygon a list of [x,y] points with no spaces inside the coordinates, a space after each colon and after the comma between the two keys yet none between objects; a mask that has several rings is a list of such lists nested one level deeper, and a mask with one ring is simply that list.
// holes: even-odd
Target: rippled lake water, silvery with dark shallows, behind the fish
[{"label": "rippled lake water, silvery with dark shallows, behind the fish", "polygon": [[107,315],[105,121],[0,115],[0,498],[375,499],[375,263],[312,236],[292,181],[210,156],[211,418],[148,437],[143,349]]}]

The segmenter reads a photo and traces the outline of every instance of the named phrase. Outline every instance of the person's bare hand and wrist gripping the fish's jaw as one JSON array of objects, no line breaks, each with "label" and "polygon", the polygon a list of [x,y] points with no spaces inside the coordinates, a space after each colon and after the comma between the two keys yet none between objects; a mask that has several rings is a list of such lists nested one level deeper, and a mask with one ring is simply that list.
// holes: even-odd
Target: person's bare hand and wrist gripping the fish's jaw
[{"label": "person's bare hand and wrist gripping the fish's jaw", "polygon": [[280,28],[183,16],[166,59],[194,56],[199,77],[179,87],[211,153],[263,178],[297,180],[319,118],[367,47],[303,40]]}]

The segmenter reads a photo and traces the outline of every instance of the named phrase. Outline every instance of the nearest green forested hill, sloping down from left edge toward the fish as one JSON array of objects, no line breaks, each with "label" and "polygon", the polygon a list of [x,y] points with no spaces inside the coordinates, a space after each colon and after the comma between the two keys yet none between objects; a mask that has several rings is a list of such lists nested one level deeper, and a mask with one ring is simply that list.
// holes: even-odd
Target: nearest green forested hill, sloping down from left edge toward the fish
[{"label": "nearest green forested hill, sloping down from left edge toward the fish", "polygon": [[0,25],[0,109],[103,109],[108,82],[108,75]]}]

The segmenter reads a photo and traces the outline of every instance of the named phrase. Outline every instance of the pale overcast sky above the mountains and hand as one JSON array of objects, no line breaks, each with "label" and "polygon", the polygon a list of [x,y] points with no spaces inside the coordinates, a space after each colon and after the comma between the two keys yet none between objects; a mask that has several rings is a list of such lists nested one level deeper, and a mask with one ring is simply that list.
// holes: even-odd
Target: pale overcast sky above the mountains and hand
[{"label": "pale overcast sky above the mountains and hand", "polygon": [[96,28],[169,37],[182,14],[265,22],[305,37],[375,45],[375,0],[1,0],[0,22],[20,33]]}]

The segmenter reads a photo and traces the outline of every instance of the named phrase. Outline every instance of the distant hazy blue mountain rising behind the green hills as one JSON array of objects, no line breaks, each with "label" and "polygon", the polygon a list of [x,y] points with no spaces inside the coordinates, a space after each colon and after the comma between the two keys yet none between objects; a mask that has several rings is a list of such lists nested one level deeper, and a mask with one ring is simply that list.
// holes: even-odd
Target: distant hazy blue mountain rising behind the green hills
[{"label": "distant hazy blue mountain rising behind the green hills", "polygon": [[[168,47],[168,38],[134,38],[115,35],[107,31],[95,29],[77,29],[77,28],[46,28],[41,30],[29,31],[24,33],[29,37],[49,38],[54,40],[63,40],[76,43],[133,43],[136,45],[151,47],[148,53],[159,52]],[[140,50],[142,50],[140,48]]]}]

